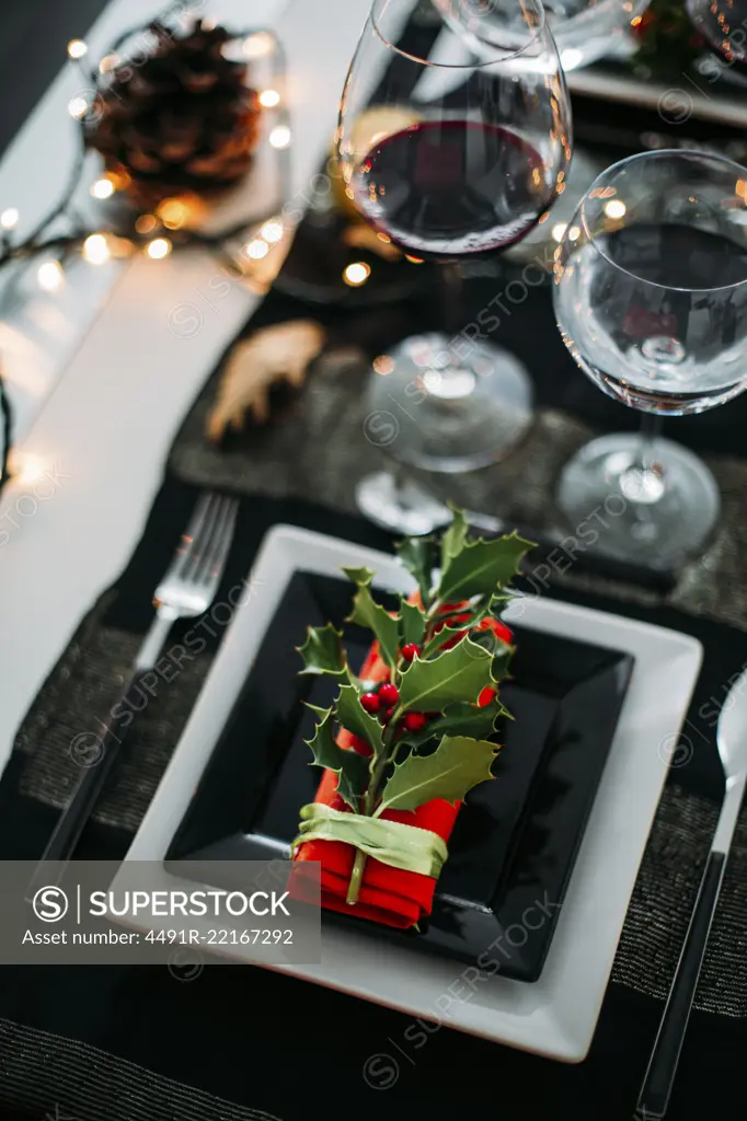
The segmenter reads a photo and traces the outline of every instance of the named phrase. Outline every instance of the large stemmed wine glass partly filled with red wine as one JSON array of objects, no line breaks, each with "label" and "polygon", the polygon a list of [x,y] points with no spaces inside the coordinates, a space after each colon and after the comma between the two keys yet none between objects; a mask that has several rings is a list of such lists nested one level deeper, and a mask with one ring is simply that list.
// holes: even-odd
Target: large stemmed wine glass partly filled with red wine
[{"label": "large stemmed wine glass partly filled with red wine", "polygon": [[[405,339],[375,363],[367,436],[402,463],[461,472],[524,435],[532,383],[490,340],[491,308],[461,306],[460,262],[499,252],[547,215],[571,157],[571,111],[540,0],[490,0],[489,41],[461,34],[441,9],[423,27],[411,20],[416,6],[375,0],[343,91],[338,151],[348,196],[379,237],[440,262],[445,279],[434,316],[443,330]],[[416,531],[390,475],[365,480],[358,498],[375,520]]]}]

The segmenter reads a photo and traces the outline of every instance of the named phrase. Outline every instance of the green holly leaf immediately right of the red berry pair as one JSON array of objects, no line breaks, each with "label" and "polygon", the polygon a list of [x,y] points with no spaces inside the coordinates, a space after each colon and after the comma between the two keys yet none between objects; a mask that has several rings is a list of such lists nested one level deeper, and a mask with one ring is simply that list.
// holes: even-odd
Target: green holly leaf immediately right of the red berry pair
[{"label": "green holly leaf immediately right of the red berry pair", "polygon": [[469,637],[437,658],[415,658],[402,675],[399,701],[416,712],[445,708],[457,701],[477,701],[486,685],[494,684],[491,661],[492,655]]}]

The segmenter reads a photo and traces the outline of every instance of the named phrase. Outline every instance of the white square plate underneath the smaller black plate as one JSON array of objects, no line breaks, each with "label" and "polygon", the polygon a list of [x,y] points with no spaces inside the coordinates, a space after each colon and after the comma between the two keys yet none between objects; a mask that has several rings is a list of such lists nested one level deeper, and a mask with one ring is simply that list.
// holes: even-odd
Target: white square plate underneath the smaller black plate
[{"label": "white square plate underneath the smaller black plate", "polygon": [[[336,575],[343,564],[372,568],[380,589],[413,590],[395,557],[290,526],[267,535],[250,577],[256,592],[237,611],[127,860],[165,858],[294,572]],[[527,984],[496,975],[470,988],[464,978],[470,971],[474,976],[471,966],[331,925],[323,929],[321,964],[280,969],[414,1017],[577,1063],[591,1044],[702,647],[686,634],[551,599],[522,597],[505,618],[635,658],[542,976]],[[164,869],[159,887],[176,882]],[[243,956],[240,946],[231,954]]]}]

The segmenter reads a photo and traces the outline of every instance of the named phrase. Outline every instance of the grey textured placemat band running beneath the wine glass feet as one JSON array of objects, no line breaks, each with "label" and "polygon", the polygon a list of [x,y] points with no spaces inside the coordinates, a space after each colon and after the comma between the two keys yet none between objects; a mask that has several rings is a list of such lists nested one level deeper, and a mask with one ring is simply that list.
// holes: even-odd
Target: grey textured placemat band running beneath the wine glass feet
[{"label": "grey textured placemat band running beneath the wine glass feet", "polygon": [[[228,448],[204,438],[205,421],[218,378],[212,378],[186,418],[174,444],[170,466],[184,480],[225,487],[245,494],[304,498],[356,513],[356,485],[381,470],[387,460],[366,436],[367,363],[340,362],[330,353],[315,364],[282,425],[255,429]],[[528,437],[501,463],[455,475],[411,472],[436,495],[472,510],[499,515],[538,531],[570,532],[557,521],[553,495],[563,464],[599,435],[557,409],[540,409]],[[667,602],[747,630],[747,461],[706,457],[721,491],[718,531],[700,557],[684,566]],[[639,587],[581,577],[570,583],[598,587],[619,599],[646,603]]]}]

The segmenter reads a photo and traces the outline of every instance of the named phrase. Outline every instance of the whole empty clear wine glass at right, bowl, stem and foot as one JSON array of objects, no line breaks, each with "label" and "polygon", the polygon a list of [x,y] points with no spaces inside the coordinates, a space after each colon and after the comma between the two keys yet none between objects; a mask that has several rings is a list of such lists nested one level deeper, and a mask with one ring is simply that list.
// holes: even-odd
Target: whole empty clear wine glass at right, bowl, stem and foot
[{"label": "whole empty clear wine glass at right, bowl, stem and foot", "polygon": [[706,465],[658,437],[747,386],[747,169],[699,151],[631,156],[584,195],[557,249],[565,345],[603,392],[639,409],[640,436],[602,436],[563,471],[574,526],[602,516],[598,547],[668,566],[708,538],[719,493]]}]

